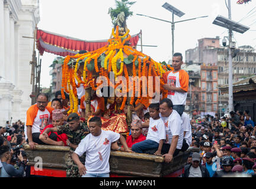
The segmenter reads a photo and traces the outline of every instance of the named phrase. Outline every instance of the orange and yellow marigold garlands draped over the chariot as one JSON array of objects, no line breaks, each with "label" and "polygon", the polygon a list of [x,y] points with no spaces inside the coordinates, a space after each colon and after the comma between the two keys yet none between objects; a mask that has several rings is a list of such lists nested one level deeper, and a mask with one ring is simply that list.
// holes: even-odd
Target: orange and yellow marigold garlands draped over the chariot
[{"label": "orange and yellow marigold garlands draped over the chariot", "polygon": [[[137,51],[136,49],[130,47],[127,45],[127,41],[130,40],[131,36],[129,35],[129,30],[124,35],[119,35],[119,26],[113,28],[111,34],[113,38],[108,40],[108,44],[105,45],[102,48],[99,48],[98,50],[91,51],[84,54],[76,54],[75,56],[66,56],[64,63],[62,65],[62,99],[65,99],[65,92],[69,94],[70,103],[71,103],[71,109],[68,113],[71,112],[77,112],[77,106],[78,106],[78,96],[77,96],[77,90],[76,87],[79,87],[80,84],[84,84],[84,87],[91,86],[93,90],[96,89],[94,86],[94,79],[92,79],[92,71],[88,70],[87,65],[91,64],[93,62],[94,64],[94,70],[96,74],[100,76],[105,76],[107,79],[108,86],[113,87],[116,89],[117,86],[122,84],[124,89],[126,89],[127,92],[132,91],[132,97],[130,100],[130,105],[132,105],[135,102],[135,96],[137,95],[138,98],[136,100],[136,105],[138,103],[142,102],[142,94],[147,94],[147,98],[149,99],[149,94],[152,92],[155,92],[155,78],[157,76],[161,77],[160,80],[160,90],[163,94],[163,97],[167,97],[168,90],[165,90],[164,87],[162,87],[165,83],[164,80],[162,80],[162,76],[164,73],[166,73],[169,70],[173,70],[170,65],[164,65],[157,63],[156,61],[152,60],[149,56],[146,56],[146,54],[141,53],[140,51]],[[98,64],[98,58],[105,54],[104,59],[104,67],[99,67],[100,64]],[[129,86],[129,73],[127,70],[127,66],[124,64],[124,54],[126,56],[133,56],[132,60],[132,76],[134,78],[139,78],[139,81],[137,82],[136,79],[133,80],[133,87],[127,88],[124,86],[124,82],[120,81],[119,83],[112,83],[110,82],[109,74],[110,71],[113,71],[114,78],[116,79],[117,76],[125,76],[127,86]],[[76,64],[72,67],[68,65],[71,58],[76,59]],[[84,68],[81,70],[79,69],[79,61],[84,60],[87,58],[84,62]],[[130,58],[130,57],[129,57]],[[92,61],[92,62],[91,62]],[[117,70],[117,64],[120,61],[120,69]],[[136,66],[136,61],[138,62],[138,65]],[[142,67],[143,63],[143,67]],[[79,72],[79,73],[78,73]],[[81,75],[82,77],[81,77]],[[138,76],[138,77],[137,77]],[[143,78],[141,78],[143,77]],[[153,77],[152,80],[148,80],[149,77]],[[76,81],[77,84],[76,84]],[[137,82],[137,84],[136,84]],[[101,83],[97,84],[99,86]],[[149,89],[153,86],[153,90]],[[148,88],[148,90],[146,90]],[[124,92],[125,93],[125,92]],[[123,98],[123,102],[121,105],[121,110],[124,109],[125,103],[127,101],[127,97]]]}]

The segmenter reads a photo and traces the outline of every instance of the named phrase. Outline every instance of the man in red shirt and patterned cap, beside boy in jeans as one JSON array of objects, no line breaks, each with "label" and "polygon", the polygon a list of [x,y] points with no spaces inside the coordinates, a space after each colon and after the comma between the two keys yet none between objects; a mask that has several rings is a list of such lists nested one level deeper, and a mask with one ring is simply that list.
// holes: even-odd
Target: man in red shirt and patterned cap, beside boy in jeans
[{"label": "man in red shirt and patterned cap, beside boy in jeans", "polygon": [[[142,121],[140,119],[135,119],[131,123],[131,132],[132,135],[128,136],[126,139],[126,143],[129,149],[132,149],[132,145],[137,142],[142,142],[146,140],[146,136],[142,134]],[[111,149],[124,151],[123,147],[119,147],[117,142],[113,143]]]}]

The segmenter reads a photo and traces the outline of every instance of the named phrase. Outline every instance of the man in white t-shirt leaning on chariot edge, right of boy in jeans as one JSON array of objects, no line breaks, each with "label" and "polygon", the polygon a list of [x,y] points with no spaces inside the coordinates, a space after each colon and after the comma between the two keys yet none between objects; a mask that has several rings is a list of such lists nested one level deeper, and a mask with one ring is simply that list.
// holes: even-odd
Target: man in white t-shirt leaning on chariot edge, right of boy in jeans
[{"label": "man in white t-shirt leaning on chariot edge, right of boy in jeans", "polygon": [[181,116],[176,110],[172,109],[172,101],[163,99],[160,102],[161,118],[165,123],[166,142],[163,145],[162,153],[165,157],[165,162],[169,163],[173,157],[178,155],[183,146],[184,128],[181,124]]}]

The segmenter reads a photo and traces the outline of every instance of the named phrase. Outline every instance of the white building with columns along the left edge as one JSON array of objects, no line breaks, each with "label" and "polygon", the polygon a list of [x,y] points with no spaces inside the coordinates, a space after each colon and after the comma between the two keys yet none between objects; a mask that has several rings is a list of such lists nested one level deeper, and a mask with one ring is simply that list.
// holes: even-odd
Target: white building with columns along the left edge
[{"label": "white building with columns along the left edge", "polygon": [[25,122],[31,106],[34,28],[40,21],[39,0],[0,0],[0,126]]}]

